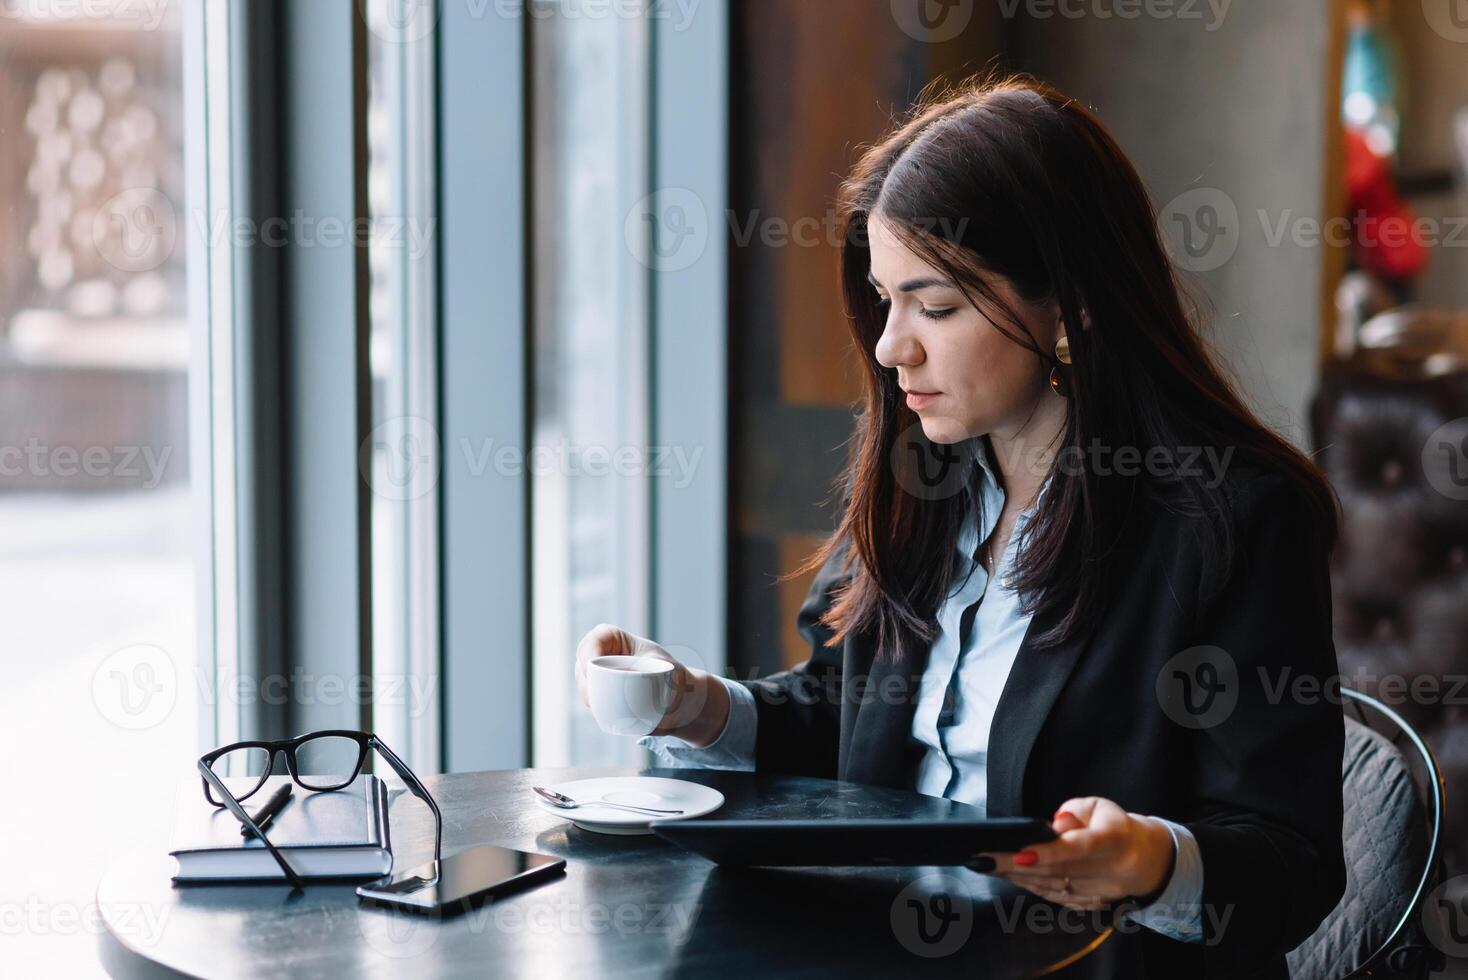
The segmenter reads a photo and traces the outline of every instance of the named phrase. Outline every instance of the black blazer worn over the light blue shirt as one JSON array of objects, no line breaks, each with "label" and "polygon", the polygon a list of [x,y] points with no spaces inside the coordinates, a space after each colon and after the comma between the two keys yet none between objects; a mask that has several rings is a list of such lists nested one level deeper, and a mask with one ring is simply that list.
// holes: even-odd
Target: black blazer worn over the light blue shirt
[{"label": "black blazer worn over the light blue shirt", "polygon": [[[1048,820],[1067,798],[1098,795],[1196,836],[1205,942],[1117,932],[1101,949],[1129,964],[1119,976],[1286,977],[1284,954],[1345,891],[1343,720],[1339,698],[1323,694],[1339,678],[1326,547],[1280,475],[1235,468],[1227,486],[1238,559],[1224,588],[1204,599],[1196,519],[1149,513],[1104,621],[1044,650],[1031,637],[1050,622],[1032,619],[989,735],[991,816]],[[928,648],[915,643],[923,648],[893,665],[873,663],[865,635],[824,646],[831,631],[818,619],[846,578],[840,559],[818,572],[797,616],[810,659],[744,682],[757,706],[756,767],[910,789]],[[1224,669],[1221,700],[1193,728],[1164,698],[1179,691],[1174,669],[1195,665],[1169,660],[1204,644],[1227,657],[1188,656],[1232,659],[1236,701],[1227,707]]]}]

